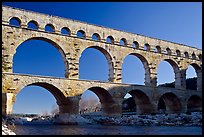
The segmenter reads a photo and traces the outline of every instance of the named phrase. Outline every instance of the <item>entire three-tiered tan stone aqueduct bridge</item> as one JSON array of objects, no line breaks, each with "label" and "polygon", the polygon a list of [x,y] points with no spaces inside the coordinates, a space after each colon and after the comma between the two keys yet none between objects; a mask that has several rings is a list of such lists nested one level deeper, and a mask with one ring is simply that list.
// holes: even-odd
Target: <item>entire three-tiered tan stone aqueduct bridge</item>
[{"label": "entire three-tiered tan stone aqueduct bridge", "polygon": [[[15,19],[19,26],[10,24]],[[37,29],[28,28],[33,23]],[[53,32],[45,31],[51,26]],[[61,34],[67,29],[68,35]],[[83,37],[77,37],[81,32]],[[92,39],[92,35],[97,40]],[[109,38],[111,43],[107,42]],[[13,57],[23,42],[40,39],[61,53],[65,78],[13,73]],[[124,45],[120,44],[120,40]],[[133,47],[132,44],[136,47]],[[109,82],[79,80],[79,59],[84,50],[94,48],[104,54],[109,64]],[[156,50],[155,50],[156,49]],[[89,89],[97,94],[104,115],[120,115],[122,101],[130,93],[138,113],[157,113],[163,100],[167,113],[202,110],[202,51],[182,44],[132,34],[56,16],[2,7],[2,112],[12,113],[16,95],[26,86],[37,85],[53,94],[60,114],[79,114],[81,94]],[[122,84],[122,64],[127,55],[138,57],[144,65],[145,85]],[[171,64],[175,88],[157,87],[157,68],[161,61]],[[192,65],[197,74],[197,90],[186,89],[186,70]]]}]

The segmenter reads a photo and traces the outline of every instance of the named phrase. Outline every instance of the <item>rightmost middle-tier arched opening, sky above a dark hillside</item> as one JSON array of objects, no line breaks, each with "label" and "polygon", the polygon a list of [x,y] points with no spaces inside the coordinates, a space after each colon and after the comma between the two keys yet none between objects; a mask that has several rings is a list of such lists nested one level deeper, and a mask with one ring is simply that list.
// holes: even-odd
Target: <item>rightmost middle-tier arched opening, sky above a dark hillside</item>
[{"label": "rightmost middle-tier arched opening, sky above a dark hillside", "polygon": [[186,89],[197,90],[202,86],[202,78],[198,80],[198,75],[202,75],[201,68],[195,63],[190,64],[186,70]]}]

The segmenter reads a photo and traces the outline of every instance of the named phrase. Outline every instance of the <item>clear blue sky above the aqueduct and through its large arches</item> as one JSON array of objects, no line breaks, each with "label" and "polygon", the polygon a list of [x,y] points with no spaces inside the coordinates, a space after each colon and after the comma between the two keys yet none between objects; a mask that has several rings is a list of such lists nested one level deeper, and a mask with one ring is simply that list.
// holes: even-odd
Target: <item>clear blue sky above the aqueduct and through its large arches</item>
[{"label": "clear blue sky above the aqueduct and through its large arches", "polygon": [[[201,2],[3,2],[3,5],[202,49]],[[144,68],[137,57],[127,56],[122,69],[122,83],[144,85]],[[60,53],[51,44],[31,40],[17,48],[13,71],[64,77],[64,64]],[[86,49],[80,58],[79,72],[80,79],[107,81],[108,64],[105,56],[95,49]],[[174,81],[173,69],[165,61],[159,64],[157,73],[158,84]],[[195,76],[195,70],[189,66],[187,78]],[[82,98],[89,97],[96,96],[91,91],[84,91]],[[17,95],[13,113],[43,113],[55,105],[54,96],[47,90],[28,86]]]}]

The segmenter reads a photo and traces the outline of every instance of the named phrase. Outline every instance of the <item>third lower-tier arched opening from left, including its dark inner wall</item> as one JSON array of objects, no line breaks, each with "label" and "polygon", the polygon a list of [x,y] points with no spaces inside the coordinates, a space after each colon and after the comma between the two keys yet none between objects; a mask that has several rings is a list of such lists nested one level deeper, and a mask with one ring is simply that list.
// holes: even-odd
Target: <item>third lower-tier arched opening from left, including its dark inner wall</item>
[{"label": "third lower-tier arched opening from left, including its dark inner wall", "polygon": [[[127,95],[129,97],[127,97]],[[153,107],[149,97],[143,91],[138,89],[129,91],[126,94],[125,100],[123,101],[122,105],[123,112],[136,112],[137,114],[148,114],[152,113],[153,111]]]}]

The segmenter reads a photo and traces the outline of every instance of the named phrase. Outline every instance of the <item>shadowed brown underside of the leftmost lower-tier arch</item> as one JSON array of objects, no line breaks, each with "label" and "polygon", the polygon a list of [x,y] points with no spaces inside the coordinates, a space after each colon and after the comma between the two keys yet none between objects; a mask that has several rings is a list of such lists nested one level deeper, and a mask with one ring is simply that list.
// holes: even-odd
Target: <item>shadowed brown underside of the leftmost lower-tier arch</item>
[{"label": "shadowed brown underside of the leftmost lower-tier arch", "polygon": [[46,90],[48,90],[56,99],[56,103],[59,106],[59,113],[65,113],[67,110],[64,109],[64,106],[67,106],[69,104],[71,104],[71,102],[65,97],[65,95],[63,94],[63,92],[57,88],[56,86],[54,86],[53,84],[47,83],[47,82],[30,82],[26,85],[21,86],[18,89],[18,92],[16,92],[16,95],[25,87],[28,86],[39,86],[42,87]]}]

